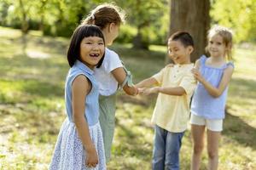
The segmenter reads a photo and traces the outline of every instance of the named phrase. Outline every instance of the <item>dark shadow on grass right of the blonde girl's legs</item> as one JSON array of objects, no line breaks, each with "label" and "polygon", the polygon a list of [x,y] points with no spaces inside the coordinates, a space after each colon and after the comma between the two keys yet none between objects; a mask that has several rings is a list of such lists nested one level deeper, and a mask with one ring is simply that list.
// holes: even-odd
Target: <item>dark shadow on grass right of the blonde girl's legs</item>
[{"label": "dark shadow on grass right of the blonde girl's legs", "polygon": [[241,145],[256,150],[256,128],[242,121],[239,116],[226,113],[223,135],[236,140]]}]

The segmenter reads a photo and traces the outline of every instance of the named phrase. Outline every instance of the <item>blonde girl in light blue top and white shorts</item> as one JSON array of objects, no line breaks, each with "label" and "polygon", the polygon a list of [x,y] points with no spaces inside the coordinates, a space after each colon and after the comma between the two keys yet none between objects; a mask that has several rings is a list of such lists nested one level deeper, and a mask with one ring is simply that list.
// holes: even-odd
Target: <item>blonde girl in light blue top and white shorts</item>
[{"label": "blonde girl in light blue top and white shorts", "polygon": [[191,103],[193,155],[191,169],[200,169],[204,132],[207,128],[208,169],[218,169],[218,142],[223,128],[225,105],[234,65],[231,59],[232,34],[222,26],[214,26],[208,34],[207,51],[192,70],[198,81]]}]

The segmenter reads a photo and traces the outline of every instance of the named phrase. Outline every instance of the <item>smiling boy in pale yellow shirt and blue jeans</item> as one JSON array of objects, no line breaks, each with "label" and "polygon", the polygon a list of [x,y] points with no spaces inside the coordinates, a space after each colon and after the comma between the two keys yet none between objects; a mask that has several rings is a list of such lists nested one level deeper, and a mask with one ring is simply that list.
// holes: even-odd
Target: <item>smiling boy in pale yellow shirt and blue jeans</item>
[{"label": "smiling boy in pale yellow shirt and blue jeans", "polygon": [[[153,77],[137,83],[139,94],[159,93],[152,122],[154,123],[153,170],[179,169],[179,150],[189,120],[189,103],[196,82],[191,72],[190,54],[193,38],[178,31],[168,40],[168,54],[175,65],[168,65]],[[154,88],[148,88],[155,85]]]}]

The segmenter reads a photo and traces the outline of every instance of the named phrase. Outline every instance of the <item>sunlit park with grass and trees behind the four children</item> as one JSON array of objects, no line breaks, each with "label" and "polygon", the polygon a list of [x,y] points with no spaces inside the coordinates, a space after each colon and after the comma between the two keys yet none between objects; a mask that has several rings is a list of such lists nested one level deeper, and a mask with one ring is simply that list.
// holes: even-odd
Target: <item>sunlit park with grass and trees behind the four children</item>
[{"label": "sunlit park with grass and trees behind the four children", "polygon": [[[48,169],[66,117],[69,38],[90,9],[110,2],[127,15],[110,48],[131,70],[134,82],[166,65],[166,39],[173,31],[192,33],[193,60],[204,53],[211,26],[234,31],[236,69],[229,87],[219,169],[256,169],[255,0],[0,0],[0,169]],[[119,92],[109,170],[150,169],[155,99],[155,95],[129,97]],[[189,169],[191,147],[188,129],[181,169]],[[201,169],[207,169],[207,150]]]}]

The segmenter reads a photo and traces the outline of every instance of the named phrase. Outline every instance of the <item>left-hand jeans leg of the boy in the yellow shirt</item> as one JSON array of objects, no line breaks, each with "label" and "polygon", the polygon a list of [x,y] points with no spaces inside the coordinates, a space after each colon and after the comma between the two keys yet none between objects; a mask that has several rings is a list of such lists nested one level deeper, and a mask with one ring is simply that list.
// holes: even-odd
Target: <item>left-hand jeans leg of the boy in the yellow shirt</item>
[{"label": "left-hand jeans leg of the boy in the yellow shirt", "polygon": [[167,131],[165,129],[157,125],[154,126],[153,170],[165,169],[166,134]]}]

